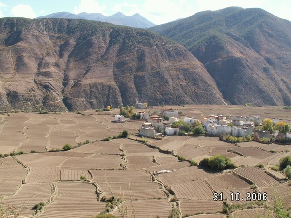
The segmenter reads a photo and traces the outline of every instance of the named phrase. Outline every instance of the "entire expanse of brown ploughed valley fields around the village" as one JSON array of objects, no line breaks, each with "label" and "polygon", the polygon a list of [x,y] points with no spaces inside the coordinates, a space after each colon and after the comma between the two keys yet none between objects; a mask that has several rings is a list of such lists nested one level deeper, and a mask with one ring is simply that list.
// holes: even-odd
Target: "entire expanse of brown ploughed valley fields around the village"
[{"label": "entire expanse of brown ploughed valley fields around the village", "polygon": [[[211,107],[174,106],[184,115],[200,120],[211,113],[291,120],[290,113],[278,107]],[[118,109],[113,112],[115,110],[118,112]],[[89,218],[105,210],[106,202],[101,199],[108,200],[114,195],[122,200],[122,204],[111,211],[117,217],[127,208],[127,213],[136,218],[157,215],[167,218],[173,208],[178,208],[182,216],[225,218],[226,215],[221,214],[222,202],[212,200],[213,192],[224,192],[224,197],[230,198],[231,191],[238,191],[244,198],[242,192],[253,190],[241,176],[255,183],[260,192],[268,193],[267,204],[271,208],[275,193],[282,197],[286,208],[291,206],[289,183],[284,181],[282,173],[268,169],[278,164],[283,156],[291,155],[291,146],[257,142],[236,146],[219,141],[218,137],[194,136],[145,138],[150,146],[133,140],[141,140],[138,135],[131,135],[131,139],[101,141],[125,129],[136,134],[143,124],[142,121],[114,123],[113,112],[0,115],[0,154],[28,153],[0,158],[2,203],[15,206],[22,217],[32,217],[35,213],[32,207],[44,202],[44,209],[35,216]],[[77,146],[86,140],[90,142]],[[76,147],[70,151],[48,152],[61,149],[67,143]],[[222,174],[190,166],[187,161],[179,162],[178,155],[197,162],[205,157],[224,155],[239,166],[250,167]],[[257,164],[264,164],[265,169],[254,167]],[[154,174],[161,170],[171,172]],[[81,181],[81,176],[86,181]],[[230,216],[254,217],[258,214],[264,217],[265,212],[264,209],[241,210]]]}]

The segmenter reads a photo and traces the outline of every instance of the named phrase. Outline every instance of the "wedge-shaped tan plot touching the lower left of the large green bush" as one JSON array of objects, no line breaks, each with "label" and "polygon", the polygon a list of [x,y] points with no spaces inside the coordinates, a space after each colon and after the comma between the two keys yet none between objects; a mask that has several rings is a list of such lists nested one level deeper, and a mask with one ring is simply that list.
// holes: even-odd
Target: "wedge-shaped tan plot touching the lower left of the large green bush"
[{"label": "wedge-shaped tan plot touching the lower left of the large green bush", "polygon": [[171,173],[160,174],[160,180],[166,185],[172,185],[179,182],[187,182],[191,180],[199,180],[216,175],[212,171],[205,171],[203,169],[194,167],[185,167]]}]

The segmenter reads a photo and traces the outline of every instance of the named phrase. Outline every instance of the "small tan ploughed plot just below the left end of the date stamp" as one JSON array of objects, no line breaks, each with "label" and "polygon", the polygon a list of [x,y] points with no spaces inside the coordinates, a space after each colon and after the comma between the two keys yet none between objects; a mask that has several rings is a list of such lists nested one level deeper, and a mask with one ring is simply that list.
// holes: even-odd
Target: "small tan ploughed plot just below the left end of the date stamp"
[{"label": "small tan ploughed plot just below the left end of the date stamp", "polygon": [[222,211],[222,202],[214,200],[181,200],[182,215],[195,215],[198,213],[215,214]]}]

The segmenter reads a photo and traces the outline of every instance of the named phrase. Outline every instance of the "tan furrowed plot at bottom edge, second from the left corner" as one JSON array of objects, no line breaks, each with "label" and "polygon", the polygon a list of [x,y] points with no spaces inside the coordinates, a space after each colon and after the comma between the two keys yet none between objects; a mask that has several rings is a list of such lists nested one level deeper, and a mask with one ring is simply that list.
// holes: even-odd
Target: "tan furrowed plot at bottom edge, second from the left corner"
[{"label": "tan furrowed plot at bottom edge, second from the left corner", "polygon": [[96,188],[84,182],[58,182],[54,202],[46,206],[40,218],[87,218],[105,209],[105,202],[97,201]]}]

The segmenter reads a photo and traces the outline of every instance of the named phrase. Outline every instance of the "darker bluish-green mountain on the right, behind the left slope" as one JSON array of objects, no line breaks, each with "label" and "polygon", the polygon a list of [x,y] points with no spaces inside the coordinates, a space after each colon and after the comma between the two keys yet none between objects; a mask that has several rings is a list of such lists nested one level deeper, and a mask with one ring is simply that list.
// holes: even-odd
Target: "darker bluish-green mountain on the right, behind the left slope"
[{"label": "darker bluish-green mountain on the right, behind the left slope", "polygon": [[227,102],[291,105],[291,22],[262,9],[204,11],[150,28],[185,46]]}]

